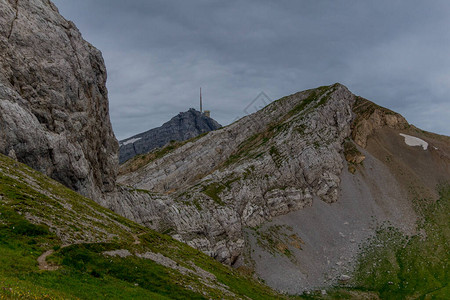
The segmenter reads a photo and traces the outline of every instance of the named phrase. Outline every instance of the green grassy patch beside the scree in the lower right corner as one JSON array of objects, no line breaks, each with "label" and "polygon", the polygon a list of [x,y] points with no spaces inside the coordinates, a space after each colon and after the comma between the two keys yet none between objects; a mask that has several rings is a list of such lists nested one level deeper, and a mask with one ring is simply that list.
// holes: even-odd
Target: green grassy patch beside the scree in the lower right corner
[{"label": "green grassy patch beside the scree in the lower right corner", "polygon": [[356,271],[356,288],[383,299],[450,299],[450,186],[440,199],[422,207],[419,228],[425,234],[406,237],[381,228],[366,246]]}]

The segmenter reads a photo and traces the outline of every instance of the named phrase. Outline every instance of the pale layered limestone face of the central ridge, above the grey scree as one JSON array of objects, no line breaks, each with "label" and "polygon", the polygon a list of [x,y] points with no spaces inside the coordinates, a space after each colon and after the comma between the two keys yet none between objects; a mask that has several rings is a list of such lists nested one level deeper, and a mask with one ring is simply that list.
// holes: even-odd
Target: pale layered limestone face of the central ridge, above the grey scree
[{"label": "pale layered limestone face of the central ridge, above the grey scree", "polygon": [[152,193],[122,193],[110,205],[234,263],[243,227],[301,209],[315,196],[337,200],[354,101],[340,84],[282,98],[124,174],[120,183]]}]

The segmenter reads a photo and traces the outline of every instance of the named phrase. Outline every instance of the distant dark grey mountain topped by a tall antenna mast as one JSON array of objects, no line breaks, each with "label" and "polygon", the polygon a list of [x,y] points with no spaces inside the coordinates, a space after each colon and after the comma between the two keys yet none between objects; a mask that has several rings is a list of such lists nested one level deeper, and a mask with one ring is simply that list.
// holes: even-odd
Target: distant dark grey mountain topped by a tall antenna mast
[{"label": "distant dark grey mountain topped by a tall antenna mast", "polygon": [[193,108],[181,112],[161,127],[150,129],[119,142],[119,163],[138,154],[162,147],[170,141],[185,141],[222,126],[214,119]]}]

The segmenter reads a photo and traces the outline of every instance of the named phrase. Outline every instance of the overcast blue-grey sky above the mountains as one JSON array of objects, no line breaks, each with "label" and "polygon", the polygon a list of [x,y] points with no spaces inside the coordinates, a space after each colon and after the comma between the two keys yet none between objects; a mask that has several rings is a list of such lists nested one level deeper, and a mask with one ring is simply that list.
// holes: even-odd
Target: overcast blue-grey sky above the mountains
[{"label": "overcast blue-grey sky above the mountains", "polygon": [[450,1],[53,0],[108,70],[118,139],[190,107],[222,125],[340,82],[422,129],[450,135]]}]

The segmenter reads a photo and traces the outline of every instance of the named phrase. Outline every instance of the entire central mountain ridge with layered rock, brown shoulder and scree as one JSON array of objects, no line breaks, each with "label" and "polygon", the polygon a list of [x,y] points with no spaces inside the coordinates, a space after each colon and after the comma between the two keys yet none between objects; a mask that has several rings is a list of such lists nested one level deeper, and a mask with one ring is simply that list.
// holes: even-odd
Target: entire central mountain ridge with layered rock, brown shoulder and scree
[{"label": "entire central mountain ridge with layered rock, brown shoulder and scree", "polygon": [[[408,146],[399,133],[424,139],[430,147],[425,151]],[[309,267],[303,267],[306,273],[299,273],[296,263],[290,262],[283,251],[281,258],[269,259],[279,251],[261,247],[261,236],[273,239],[274,230],[278,238],[292,236],[294,240],[279,244],[287,246],[279,247],[297,257],[300,253],[291,243],[296,244],[297,237],[298,241],[307,240],[309,233],[291,226],[297,223],[284,216],[300,214],[311,207],[316,210],[322,201],[337,207],[350,205],[347,212],[360,207],[365,220],[377,220],[371,223],[356,217],[355,222],[362,222],[360,227],[347,219],[342,222],[350,224],[347,229],[342,228],[340,233],[327,231],[325,236],[339,237],[343,232],[355,236],[352,241],[343,239],[341,244],[348,263],[356,261],[355,245],[375,234],[375,224],[391,222],[405,234],[415,234],[419,217],[413,199],[436,199],[436,184],[448,181],[448,141],[416,129],[401,115],[353,95],[340,84],[324,86],[284,97],[223,129],[181,144],[140,169],[122,173],[118,180],[125,189],[152,191],[151,195],[136,194],[125,200],[122,205],[130,206],[122,209],[127,211],[127,217],[167,232],[219,261],[235,267],[253,265],[258,276],[272,287],[298,293],[336,284],[340,276],[351,274],[354,265],[334,256],[329,259],[338,264],[337,268],[323,265],[329,255],[324,250],[324,257],[310,256],[316,266],[307,264]],[[423,163],[414,162],[414,156]],[[396,167],[392,168],[394,164]],[[384,180],[393,184],[386,185]],[[410,186],[415,187],[414,193]],[[355,198],[358,193],[359,198]],[[343,197],[350,200],[343,201]],[[377,200],[380,197],[383,201]],[[122,200],[126,198],[122,195]],[[397,215],[389,211],[396,211]],[[347,215],[345,211],[340,213]],[[277,225],[281,227],[265,226],[283,218]],[[328,226],[325,224],[330,218],[318,216],[309,222],[320,228]],[[260,227],[265,229],[252,231]],[[334,241],[334,237],[329,238]],[[319,241],[331,249],[336,247],[327,240]],[[302,246],[303,256],[315,253],[312,245],[320,249],[321,243]],[[311,254],[306,254],[305,249]],[[245,254],[254,250],[261,255],[266,253],[265,259]],[[270,254],[272,251],[275,252]],[[264,271],[267,261],[272,261],[269,273]],[[280,266],[279,273],[273,266]],[[282,275],[286,269],[303,283],[288,284]],[[315,279],[306,279],[311,274],[315,274]],[[331,277],[324,277],[325,274]]]}]

